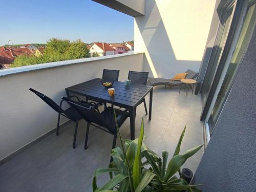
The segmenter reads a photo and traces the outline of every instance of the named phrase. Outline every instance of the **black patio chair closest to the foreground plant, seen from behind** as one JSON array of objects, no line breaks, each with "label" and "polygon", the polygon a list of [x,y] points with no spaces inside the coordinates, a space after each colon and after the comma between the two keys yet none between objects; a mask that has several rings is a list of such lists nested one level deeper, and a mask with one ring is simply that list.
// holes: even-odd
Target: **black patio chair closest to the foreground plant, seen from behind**
[{"label": "black patio chair closest to the foreground plant, seen from behind", "polygon": [[[98,113],[98,111],[95,110],[88,103],[77,102],[77,101],[68,99],[66,97],[62,97],[62,99],[68,102],[70,106],[73,107],[84,118],[84,120],[87,121],[87,131],[86,131],[86,140],[84,142],[84,149],[87,149],[89,129],[92,123],[93,123],[92,125],[97,127],[98,129],[114,136],[112,149],[115,148],[116,139],[117,139],[117,127],[116,127],[115,116],[114,116],[114,111],[112,107],[109,106],[103,112]],[[118,123],[118,126],[120,127],[129,116],[129,113],[127,113],[126,111],[118,110],[118,109],[115,109],[115,112],[117,117],[117,123]]]}]

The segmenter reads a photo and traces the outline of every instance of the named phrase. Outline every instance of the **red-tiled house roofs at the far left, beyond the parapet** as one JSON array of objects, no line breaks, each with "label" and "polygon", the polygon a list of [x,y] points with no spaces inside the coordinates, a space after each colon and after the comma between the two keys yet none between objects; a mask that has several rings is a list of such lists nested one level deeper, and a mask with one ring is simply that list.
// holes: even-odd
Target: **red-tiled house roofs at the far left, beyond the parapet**
[{"label": "red-tiled house roofs at the far left, beyond the parapet", "polygon": [[0,68],[7,69],[19,55],[33,55],[31,50],[27,48],[5,48],[0,49]]}]

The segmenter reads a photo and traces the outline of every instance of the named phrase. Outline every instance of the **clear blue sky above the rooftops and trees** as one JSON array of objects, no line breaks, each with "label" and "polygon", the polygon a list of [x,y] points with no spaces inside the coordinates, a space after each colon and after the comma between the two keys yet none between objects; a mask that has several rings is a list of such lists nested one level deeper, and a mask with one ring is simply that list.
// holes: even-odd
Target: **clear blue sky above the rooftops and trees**
[{"label": "clear blue sky above the rooftops and trees", "polygon": [[51,37],[84,42],[133,40],[133,17],[90,0],[1,0],[0,45],[45,43]]}]

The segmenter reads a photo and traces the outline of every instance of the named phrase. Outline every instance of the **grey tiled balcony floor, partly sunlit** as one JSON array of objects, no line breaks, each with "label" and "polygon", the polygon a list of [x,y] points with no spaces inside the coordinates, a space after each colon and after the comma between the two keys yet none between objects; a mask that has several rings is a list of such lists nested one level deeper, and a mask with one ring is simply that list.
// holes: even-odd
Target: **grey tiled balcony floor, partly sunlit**
[{"label": "grey tiled balcony floor, partly sunlit", "polygon": [[[159,155],[164,150],[172,156],[186,123],[181,153],[203,143],[199,95],[191,95],[190,92],[185,97],[184,92],[179,94],[179,88],[157,87],[153,97],[152,120],[148,121],[144,116],[144,142],[148,147]],[[141,104],[137,108],[136,137],[143,113]],[[110,160],[112,136],[92,126],[88,150],[84,150],[85,130],[86,122],[81,120],[75,150],[72,148],[74,123],[70,122],[61,129],[58,137],[53,133],[0,165],[0,191],[92,191],[94,170],[107,166]],[[121,126],[121,135],[130,138],[129,118]],[[202,154],[203,149],[188,159],[184,167],[195,173]],[[107,179],[107,175],[102,176],[98,183]]]}]

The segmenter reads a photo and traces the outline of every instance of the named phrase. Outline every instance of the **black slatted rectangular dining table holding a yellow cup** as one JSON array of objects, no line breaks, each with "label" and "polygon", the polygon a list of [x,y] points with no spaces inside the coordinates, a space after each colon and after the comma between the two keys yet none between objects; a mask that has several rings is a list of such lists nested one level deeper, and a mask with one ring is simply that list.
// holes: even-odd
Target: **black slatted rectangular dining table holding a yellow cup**
[{"label": "black slatted rectangular dining table holding a yellow cup", "polygon": [[113,102],[114,105],[129,110],[131,123],[131,139],[135,139],[136,107],[140,104],[142,99],[148,93],[150,93],[150,110],[148,113],[148,119],[151,120],[153,87],[143,84],[130,84],[130,86],[125,86],[124,82],[115,81],[113,85],[113,88],[115,88],[115,96],[109,96],[108,89],[102,86],[100,80],[101,79],[96,78],[66,88],[67,96],[70,97],[69,94],[74,93],[102,102]]}]

